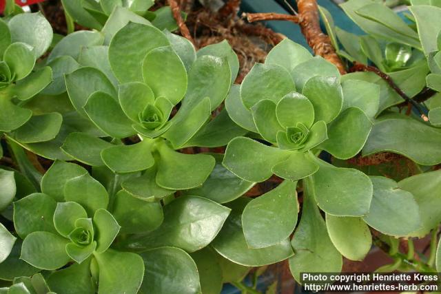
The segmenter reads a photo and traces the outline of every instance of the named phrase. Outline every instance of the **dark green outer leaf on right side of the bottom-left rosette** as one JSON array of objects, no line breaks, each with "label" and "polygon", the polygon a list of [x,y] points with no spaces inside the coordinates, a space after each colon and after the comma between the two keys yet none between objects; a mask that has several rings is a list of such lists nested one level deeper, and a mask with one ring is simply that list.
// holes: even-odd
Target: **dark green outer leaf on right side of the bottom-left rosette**
[{"label": "dark green outer leaf on right side of the bottom-left rosette", "polygon": [[121,225],[121,233],[145,233],[157,229],[163,222],[159,202],[149,202],[121,190],[116,193],[113,216]]}]

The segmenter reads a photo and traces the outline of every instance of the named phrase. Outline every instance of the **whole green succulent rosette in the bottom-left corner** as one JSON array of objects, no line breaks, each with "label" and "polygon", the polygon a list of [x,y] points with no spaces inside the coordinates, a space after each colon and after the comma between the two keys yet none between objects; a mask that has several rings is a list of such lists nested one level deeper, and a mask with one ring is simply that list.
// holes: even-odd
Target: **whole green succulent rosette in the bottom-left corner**
[{"label": "whole green succulent rosette in the bottom-left corner", "polygon": [[[45,277],[57,293],[72,288],[69,280],[75,283],[75,293],[95,293],[96,288],[99,293],[136,293],[143,281],[142,258],[110,247],[119,233],[130,232],[130,222],[143,226],[141,231],[157,227],[162,221],[161,206],[138,200],[139,207],[152,213],[150,223],[139,213],[132,211],[129,216],[122,208],[136,199],[124,194],[110,204],[100,182],[82,167],[61,161],[43,176],[41,191],[14,202],[14,229],[23,240],[14,242],[21,244],[20,259],[31,267],[17,264],[12,254],[5,263],[15,262],[16,274],[30,269],[52,271]],[[6,268],[0,267],[3,277]],[[121,275],[122,280],[116,279]]]}]

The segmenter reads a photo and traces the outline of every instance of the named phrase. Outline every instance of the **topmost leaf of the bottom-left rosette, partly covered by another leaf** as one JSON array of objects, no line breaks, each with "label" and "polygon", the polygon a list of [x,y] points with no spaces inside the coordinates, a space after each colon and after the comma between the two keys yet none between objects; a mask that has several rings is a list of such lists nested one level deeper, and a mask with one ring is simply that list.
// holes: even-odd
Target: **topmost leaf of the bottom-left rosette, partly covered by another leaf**
[{"label": "topmost leaf of the bottom-left rosette, partly covered by another leaf", "polygon": [[87,174],[83,167],[63,161],[55,161],[41,179],[41,191],[57,202],[64,202],[64,186],[68,180]]}]

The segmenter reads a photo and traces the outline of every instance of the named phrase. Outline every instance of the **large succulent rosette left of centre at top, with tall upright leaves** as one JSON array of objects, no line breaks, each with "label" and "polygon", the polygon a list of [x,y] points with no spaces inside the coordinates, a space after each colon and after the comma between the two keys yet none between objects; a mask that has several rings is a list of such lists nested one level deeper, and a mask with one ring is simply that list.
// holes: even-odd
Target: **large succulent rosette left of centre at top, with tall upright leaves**
[{"label": "large succulent rosette left of centre at top, with tall upright leaves", "polygon": [[[196,56],[191,43],[181,37],[152,25],[128,23],[114,34],[108,60],[111,70],[106,74],[96,67],[80,67],[67,74],[65,81],[76,111],[105,136],[115,138],[114,144],[72,133],[63,151],[90,165],[107,165],[119,174],[154,169],[149,174],[156,174],[156,183],[165,189],[202,185],[214,158],[174,150],[225,145],[245,134],[225,111],[210,120],[236,77],[236,54],[223,42],[199,50]],[[135,135],[141,142],[118,143]]]}]

